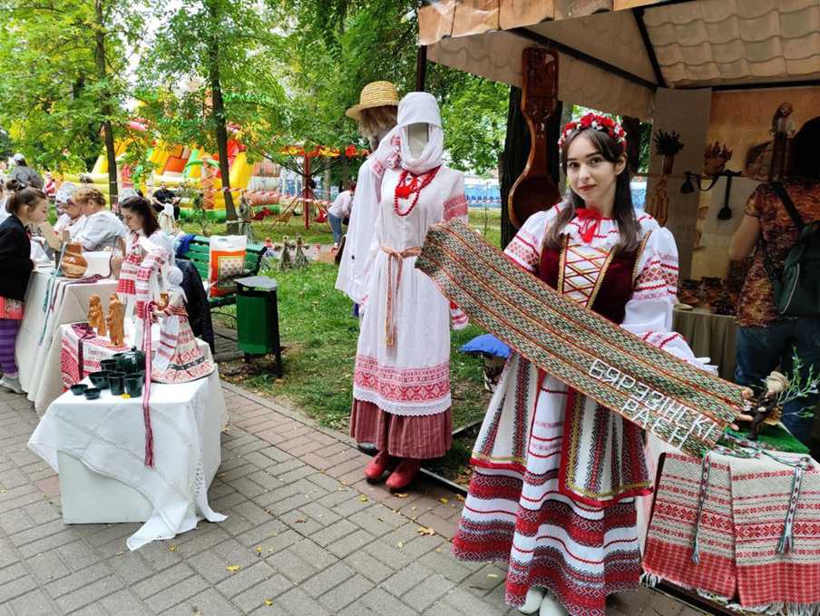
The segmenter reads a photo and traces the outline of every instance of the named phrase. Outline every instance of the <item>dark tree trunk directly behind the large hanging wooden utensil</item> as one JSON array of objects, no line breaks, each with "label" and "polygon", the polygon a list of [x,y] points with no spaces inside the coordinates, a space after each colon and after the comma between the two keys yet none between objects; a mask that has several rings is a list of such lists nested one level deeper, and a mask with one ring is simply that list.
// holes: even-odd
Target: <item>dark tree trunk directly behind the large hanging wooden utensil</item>
[{"label": "dark tree trunk directly behind the large hanging wooden utensil", "polygon": [[[521,88],[510,86],[510,103],[507,107],[507,136],[504,140],[504,151],[500,163],[501,184],[501,248],[505,248],[515,236],[515,227],[512,226],[510,214],[507,210],[507,200],[510,197],[512,185],[518,180],[527,158],[530,156],[530,129],[521,112]],[[558,102],[555,110],[547,120],[547,170],[552,181],[561,190],[561,161],[558,158],[558,138],[561,135],[561,110],[563,104]]]}]

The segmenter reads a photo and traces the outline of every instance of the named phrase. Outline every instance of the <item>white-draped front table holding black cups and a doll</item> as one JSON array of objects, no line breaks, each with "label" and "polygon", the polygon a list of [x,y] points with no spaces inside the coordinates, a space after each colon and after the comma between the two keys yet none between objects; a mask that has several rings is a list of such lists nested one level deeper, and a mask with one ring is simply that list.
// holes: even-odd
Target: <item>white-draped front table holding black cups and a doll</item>
[{"label": "white-draped front table holding black cups and a doll", "polygon": [[[203,517],[225,519],[208,504],[227,421],[219,371],[190,383],[152,384],[150,408],[152,467],[145,464],[142,396],[123,399],[106,390],[86,400],[66,392],[28,442],[60,473],[67,523],[145,521],[128,539],[131,550],[190,531]],[[123,500],[147,514],[123,518]]]}]

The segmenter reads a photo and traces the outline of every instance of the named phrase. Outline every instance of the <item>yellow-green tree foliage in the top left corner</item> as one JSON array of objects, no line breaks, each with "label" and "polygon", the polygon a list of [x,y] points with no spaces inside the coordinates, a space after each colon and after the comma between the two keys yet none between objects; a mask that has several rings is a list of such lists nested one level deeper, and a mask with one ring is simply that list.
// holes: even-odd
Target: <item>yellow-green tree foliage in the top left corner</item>
[{"label": "yellow-green tree foliage in the top left corner", "polygon": [[126,0],[0,0],[0,125],[15,150],[41,167],[85,171],[101,153],[103,124],[122,134],[126,49],[141,33]]}]

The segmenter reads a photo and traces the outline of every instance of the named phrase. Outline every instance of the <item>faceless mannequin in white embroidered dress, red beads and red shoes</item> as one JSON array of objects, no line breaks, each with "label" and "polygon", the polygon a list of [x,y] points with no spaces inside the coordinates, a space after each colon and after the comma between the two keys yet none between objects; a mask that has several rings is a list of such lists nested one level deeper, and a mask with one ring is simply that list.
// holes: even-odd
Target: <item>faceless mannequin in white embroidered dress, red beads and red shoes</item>
[{"label": "faceless mannequin in white embroidered dress, red beads and red shoes", "polygon": [[[409,93],[395,129],[375,152],[382,176],[375,240],[366,267],[367,293],[356,348],[350,434],[376,444],[365,469],[387,486],[409,484],[426,458],[451,443],[451,308],[433,281],[415,269],[427,230],[467,216],[464,175],[442,163],[444,133],[438,105]],[[452,308],[454,327],[466,326]]]}]

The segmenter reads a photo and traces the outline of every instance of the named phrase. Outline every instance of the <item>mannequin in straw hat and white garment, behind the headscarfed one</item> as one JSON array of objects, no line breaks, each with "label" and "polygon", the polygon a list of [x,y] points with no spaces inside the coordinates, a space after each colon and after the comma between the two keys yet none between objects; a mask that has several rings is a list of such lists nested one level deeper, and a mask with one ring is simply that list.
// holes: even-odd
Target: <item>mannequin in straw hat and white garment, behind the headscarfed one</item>
[{"label": "mannequin in straw hat and white garment, behind the headscarfed one", "polygon": [[[379,142],[395,126],[397,108],[398,93],[393,83],[367,83],[359,95],[359,103],[347,110],[347,117],[356,120],[359,132],[369,140],[371,151],[376,152]],[[366,293],[364,271],[376,229],[382,174],[374,169],[374,162],[371,155],[359,168],[345,250],[336,279],[336,288],[356,305],[362,303]]]}]

